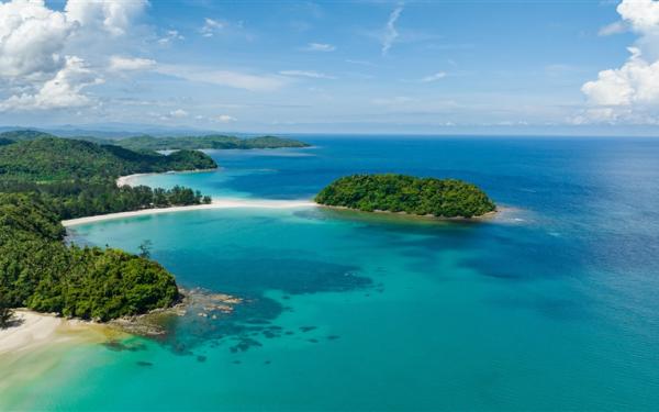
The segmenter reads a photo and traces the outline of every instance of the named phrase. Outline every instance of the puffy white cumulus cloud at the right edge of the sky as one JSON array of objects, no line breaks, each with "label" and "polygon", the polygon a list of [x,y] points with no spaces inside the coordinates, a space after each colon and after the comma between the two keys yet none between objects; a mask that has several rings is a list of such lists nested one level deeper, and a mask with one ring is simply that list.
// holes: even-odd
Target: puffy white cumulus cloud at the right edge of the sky
[{"label": "puffy white cumulus cloud at the right edge of the sky", "polygon": [[623,0],[616,10],[639,38],[619,68],[602,70],[582,86],[590,108],[577,123],[651,123],[659,114],[659,1]]}]

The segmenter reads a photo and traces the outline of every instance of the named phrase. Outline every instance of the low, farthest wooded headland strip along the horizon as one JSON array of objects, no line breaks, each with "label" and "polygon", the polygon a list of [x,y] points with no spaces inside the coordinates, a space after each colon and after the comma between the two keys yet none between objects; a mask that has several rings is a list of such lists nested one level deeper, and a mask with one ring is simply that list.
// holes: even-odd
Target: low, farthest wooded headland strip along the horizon
[{"label": "low, farthest wooded headland strip along the horizon", "polygon": [[309,144],[292,138],[263,136],[238,138],[235,136],[208,135],[183,137],[136,136],[114,142],[132,151],[168,151],[168,149],[203,149],[203,148],[281,148],[309,147]]}]

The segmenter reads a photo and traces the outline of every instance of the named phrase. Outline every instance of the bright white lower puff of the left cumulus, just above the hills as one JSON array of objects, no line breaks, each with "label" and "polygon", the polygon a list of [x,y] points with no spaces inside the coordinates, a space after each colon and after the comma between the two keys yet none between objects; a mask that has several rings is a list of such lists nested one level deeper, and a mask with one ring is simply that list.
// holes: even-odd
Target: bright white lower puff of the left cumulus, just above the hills
[{"label": "bright white lower puff of the left cumulus, just above the hills", "polygon": [[66,56],[65,62],[57,75],[46,81],[36,93],[14,94],[0,103],[0,110],[47,110],[90,104],[91,100],[82,93],[82,89],[103,80],[86,67],[79,57]]}]

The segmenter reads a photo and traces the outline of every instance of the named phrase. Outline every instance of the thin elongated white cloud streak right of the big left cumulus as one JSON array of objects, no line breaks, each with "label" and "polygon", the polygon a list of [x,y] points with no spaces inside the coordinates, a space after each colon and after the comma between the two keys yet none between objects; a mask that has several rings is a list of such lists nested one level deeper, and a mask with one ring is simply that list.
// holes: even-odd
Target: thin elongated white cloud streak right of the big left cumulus
[{"label": "thin elongated white cloud streak right of the big left cumulus", "polygon": [[286,85],[286,80],[278,76],[214,70],[194,66],[159,65],[155,70],[164,75],[175,76],[190,81],[206,82],[250,91],[272,91],[278,90]]}]

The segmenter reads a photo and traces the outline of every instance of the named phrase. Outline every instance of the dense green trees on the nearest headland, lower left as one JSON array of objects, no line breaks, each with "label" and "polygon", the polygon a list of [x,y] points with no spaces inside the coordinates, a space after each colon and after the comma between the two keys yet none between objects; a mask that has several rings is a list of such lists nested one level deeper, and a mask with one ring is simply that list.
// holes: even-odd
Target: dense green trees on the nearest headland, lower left
[{"label": "dense green trees on the nearest headland, lower left", "polygon": [[0,301],[108,321],[174,304],[160,265],[122,250],[64,244],[59,216],[37,194],[0,194]]}]

